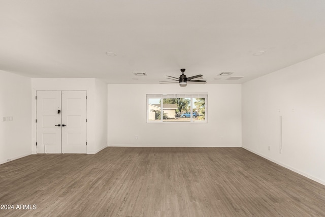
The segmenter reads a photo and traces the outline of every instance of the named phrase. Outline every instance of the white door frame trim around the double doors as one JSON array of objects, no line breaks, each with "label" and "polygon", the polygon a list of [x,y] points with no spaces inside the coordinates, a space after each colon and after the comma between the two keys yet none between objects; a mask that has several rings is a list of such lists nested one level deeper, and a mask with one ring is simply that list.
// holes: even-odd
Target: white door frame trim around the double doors
[{"label": "white door frame trim around the double doors", "polygon": [[37,154],[37,148],[36,148],[36,143],[37,143],[37,125],[36,125],[36,92],[37,91],[86,91],[86,142],[87,142],[87,149],[86,149],[86,154],[89,154],[89,89],[32,89],[32,108],[31,108],[31,154]]}]

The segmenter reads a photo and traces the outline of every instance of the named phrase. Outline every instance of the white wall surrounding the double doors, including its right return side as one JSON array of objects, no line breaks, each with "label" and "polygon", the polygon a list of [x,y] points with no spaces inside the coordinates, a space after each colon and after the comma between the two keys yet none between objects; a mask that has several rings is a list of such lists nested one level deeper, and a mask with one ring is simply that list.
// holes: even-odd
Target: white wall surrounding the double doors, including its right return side
[{"label": "white wall surrounding the double doors, including its right return side", "polygon": [[[107,147],[107,84],[95,78],[32,78],[32,119],[36,119],[35,96],[37,90],[86,90],[87,91],[87,153],[96,153]],[[103,118],[104,117],[104,118]],[[33,121],[32,144],[36,142],[36,126]],[[32,145],[33,153],[36,146]]]}]

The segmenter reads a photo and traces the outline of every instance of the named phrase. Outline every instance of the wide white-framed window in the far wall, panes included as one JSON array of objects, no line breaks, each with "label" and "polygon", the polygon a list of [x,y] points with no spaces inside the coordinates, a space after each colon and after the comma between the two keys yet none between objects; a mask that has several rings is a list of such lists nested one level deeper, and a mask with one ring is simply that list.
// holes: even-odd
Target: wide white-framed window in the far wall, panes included
[{"label": "wide white-framed window in the far wall, panes included", "polygon": [[147,122],[205,123],[207,101],[208,94],[147,94]]}]

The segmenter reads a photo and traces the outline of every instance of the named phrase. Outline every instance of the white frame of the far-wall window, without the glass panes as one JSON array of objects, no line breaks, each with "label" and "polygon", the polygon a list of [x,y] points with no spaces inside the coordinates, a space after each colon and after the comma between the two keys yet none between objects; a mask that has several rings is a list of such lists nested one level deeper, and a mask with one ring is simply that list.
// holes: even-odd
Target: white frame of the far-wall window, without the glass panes
[{"label": "white frame of the far-wall window, without the glass panes", "polygon": [[[205,120],[204,121],[193,121],[192,115],[190,115],[190,121],[163,121],[164,115],[160,115],[160,121],[149,120],[149,99],[172,99],[172,98],[190,98],[190,114],[193,113],[193,98],[204,98],[205,99]],[[147,112],[146,119],[147,123],[207,123],[208,122],[208,93],[181,93],[181,94],[147,94],[146,95]],[[163,100],[160,102],[160,112],[164,112]]]}]

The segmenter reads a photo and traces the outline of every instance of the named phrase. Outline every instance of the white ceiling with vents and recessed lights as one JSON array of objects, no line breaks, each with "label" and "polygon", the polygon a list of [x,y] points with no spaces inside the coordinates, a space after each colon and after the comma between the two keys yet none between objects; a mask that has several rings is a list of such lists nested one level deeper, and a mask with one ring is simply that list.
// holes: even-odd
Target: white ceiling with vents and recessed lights
[{"label": "white ceiling with vents and recessed lights", "polygon": [[242,83],[325,53],[324,42],[323,0],[0,0],[0,70],[28,77],[158,84],[185,68]]}]

